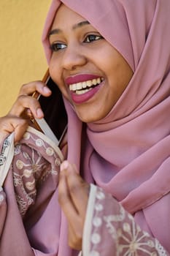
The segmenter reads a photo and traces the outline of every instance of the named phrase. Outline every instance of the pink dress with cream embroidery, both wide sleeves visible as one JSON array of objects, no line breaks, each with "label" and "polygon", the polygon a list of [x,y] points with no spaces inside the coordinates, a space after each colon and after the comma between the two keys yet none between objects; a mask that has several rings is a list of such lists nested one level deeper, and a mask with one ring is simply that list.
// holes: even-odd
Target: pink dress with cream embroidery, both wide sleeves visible
[{"label": "pink dress with cream embroidery, both wide sleeves visible", "polygon": [[[7,144],[6,139],[5,148]],[[7,162],[4,153],[3,157],[1,166]],[[15,146],[4,189],[0,189],[0,255],[60,255],[57,187],[61,161],[60,149],[31,127]],[[112,195],[92,184],[82,248],[84,256],[168,255]]]}]

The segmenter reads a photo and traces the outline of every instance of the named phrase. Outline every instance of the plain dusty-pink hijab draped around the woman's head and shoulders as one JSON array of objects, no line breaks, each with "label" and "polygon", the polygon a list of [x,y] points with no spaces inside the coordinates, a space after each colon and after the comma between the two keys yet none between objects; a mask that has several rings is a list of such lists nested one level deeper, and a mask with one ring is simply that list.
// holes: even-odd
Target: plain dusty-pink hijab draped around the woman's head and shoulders
[{"label": "plain dusty-pink hijab draped around the woman's head and shoulders", "polygon": [[[134,70],[117,104],[95,124],[82,126],[65,100],[68,159],[79,168],[82,151],[85,180],[116,197],[170,252],[170,1],[62,2],[96,27]],[[48,62],[47,33],[60,4],[53,0],[42,36]]]}]

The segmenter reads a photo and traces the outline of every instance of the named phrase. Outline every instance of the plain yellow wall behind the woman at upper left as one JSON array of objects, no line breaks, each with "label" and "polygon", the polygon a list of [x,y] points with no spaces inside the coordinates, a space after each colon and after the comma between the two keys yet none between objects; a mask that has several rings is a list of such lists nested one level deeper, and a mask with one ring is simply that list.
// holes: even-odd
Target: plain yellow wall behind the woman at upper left
[{"label": "plain yellow wall behind the woman at upper left", "polygon": [[0,116],[7,113],[20,86],[42,79],[47,63],[42,28],[51,0],[1,0]]}]

